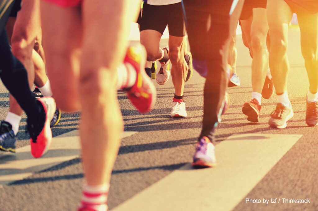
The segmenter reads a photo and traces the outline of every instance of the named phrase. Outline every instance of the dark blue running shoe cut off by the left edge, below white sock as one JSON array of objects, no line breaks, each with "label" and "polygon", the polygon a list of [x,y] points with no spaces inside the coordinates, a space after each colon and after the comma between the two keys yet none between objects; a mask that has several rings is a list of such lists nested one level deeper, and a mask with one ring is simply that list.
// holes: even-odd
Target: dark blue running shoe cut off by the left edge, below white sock
[{"label": "dark blue running shoe cut off by the left edge, below white sock", "polygon": [[0,125],[0,150],[16,152],[16,136],[9,122],[3,121]]}]

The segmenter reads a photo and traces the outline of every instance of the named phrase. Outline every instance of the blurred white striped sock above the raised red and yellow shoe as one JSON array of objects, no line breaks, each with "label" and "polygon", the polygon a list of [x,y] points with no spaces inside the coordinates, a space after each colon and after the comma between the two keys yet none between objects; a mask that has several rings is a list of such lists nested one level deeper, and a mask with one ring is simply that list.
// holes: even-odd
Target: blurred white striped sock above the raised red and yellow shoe
[{"label": "blurred white striped sock above the raised red and yellow shoe", "polygon": [[121,63],[117,67],[117,89],[130,88],[136,82],[135,68],[129,63]]}]

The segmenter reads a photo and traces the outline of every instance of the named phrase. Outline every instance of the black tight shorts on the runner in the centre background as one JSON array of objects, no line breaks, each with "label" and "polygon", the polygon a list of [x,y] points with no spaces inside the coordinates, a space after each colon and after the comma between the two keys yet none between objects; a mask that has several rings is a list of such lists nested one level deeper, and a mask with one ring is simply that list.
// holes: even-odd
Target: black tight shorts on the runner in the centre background
[{"label": "black tight shorts on the runner in the centre background", "polygon": [[163,34],[168,25],[169,35],[186,35],[181,2],[160,6],[144,3],[140,23],[140,31],[150,29]]}]

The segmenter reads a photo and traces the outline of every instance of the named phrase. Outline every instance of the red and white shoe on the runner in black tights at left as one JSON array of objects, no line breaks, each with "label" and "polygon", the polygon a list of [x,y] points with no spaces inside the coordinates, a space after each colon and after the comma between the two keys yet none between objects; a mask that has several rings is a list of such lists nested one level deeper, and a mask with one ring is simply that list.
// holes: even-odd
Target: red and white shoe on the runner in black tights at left
[{"label": "red and white shoe on the runner in black tights at left", "polygon": [[31,154],[35,158],[44,155],[51,145],[52,131],[50,122],[56,111],[55,100],[52,97],[38,98],[38,101],[42,104],[45,111],[44,127],[39,128],[38,124],[30,122],[29,118],[27,120],[30,133]]}]

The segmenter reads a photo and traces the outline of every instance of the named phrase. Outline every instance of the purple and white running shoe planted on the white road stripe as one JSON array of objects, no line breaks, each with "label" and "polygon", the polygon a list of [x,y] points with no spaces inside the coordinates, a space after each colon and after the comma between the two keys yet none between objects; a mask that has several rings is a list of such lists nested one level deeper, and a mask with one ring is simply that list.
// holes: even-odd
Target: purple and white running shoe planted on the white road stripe
[{"label": "purple and white running shoe planted on the white road stripe", "polygon": [[204,136],[197,142],[196,153],[193,156],[193,167],[204,168],[216,166],[214,145]]}]

